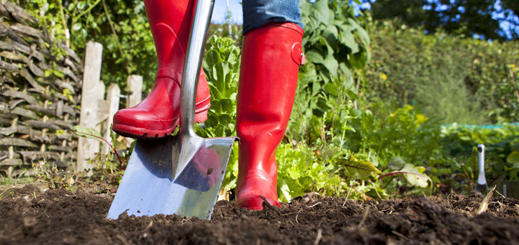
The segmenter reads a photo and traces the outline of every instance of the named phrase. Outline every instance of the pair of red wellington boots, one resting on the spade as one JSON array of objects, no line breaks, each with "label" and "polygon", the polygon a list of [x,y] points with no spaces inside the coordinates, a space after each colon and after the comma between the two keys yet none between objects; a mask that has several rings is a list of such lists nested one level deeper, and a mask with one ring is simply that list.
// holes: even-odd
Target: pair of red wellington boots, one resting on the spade
[{"label": "pair of red wellington boots, one resting on the spade", "polygon": [[[137,106],[114,116],[112,130],[135,139],[159,139],[179,124],[180,87],[194,1],[144,0],[154,36],[159,71],[151,93]],[[236,129],[239,141],[236,204],[263,209],[264,197],[279,207],[276,148],[283,139],[304,60],[303,30],[273,22],[243,36]],[[210,94],[201,71],[195,122],[207,119]],[[261,196],[261,197],[260,197]]]}]

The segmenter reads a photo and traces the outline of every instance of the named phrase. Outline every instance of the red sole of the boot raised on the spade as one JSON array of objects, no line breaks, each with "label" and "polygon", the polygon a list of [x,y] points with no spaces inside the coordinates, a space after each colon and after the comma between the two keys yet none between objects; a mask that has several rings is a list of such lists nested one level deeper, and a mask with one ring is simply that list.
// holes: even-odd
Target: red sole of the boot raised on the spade
[{"label": "red sole of the boot raised on the spade", "polygon": [[[144,140],[155,140],[155,139],[161,139],[164,137],[167,137],[170,134],[173,134],[173,131],[177,128],[179,125],[179,120],[177,119],[175,121],[175,124],[173,127],[168,128],[166,130],[147,130],[142,127],[133,127],[129,125],[121,125],[121,124],[114,124],[112,125],[112,130],[116,132],[117,134],[133,138],[133,139],[144,139]],[[205,111],[200,111],[195,113],[194,121],[195,123],[203,123],[207,120],[207,109]]]}]

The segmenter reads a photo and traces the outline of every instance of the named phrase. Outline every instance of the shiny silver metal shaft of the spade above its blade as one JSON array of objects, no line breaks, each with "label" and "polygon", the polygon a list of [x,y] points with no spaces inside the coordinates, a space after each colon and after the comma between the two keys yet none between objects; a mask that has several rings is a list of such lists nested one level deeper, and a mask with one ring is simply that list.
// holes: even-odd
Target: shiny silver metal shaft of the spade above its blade
[{"label": "shiny silver metal shaft of the spade above its blade", "polygon": [[191,32],[187,44],[186,59],[182,75],[180,92],[180,134],[195,136],[194,113],[196,104],[196,88],[203,59],[203,50],[209,29],[215,0],[198,0],[194,10]]}]

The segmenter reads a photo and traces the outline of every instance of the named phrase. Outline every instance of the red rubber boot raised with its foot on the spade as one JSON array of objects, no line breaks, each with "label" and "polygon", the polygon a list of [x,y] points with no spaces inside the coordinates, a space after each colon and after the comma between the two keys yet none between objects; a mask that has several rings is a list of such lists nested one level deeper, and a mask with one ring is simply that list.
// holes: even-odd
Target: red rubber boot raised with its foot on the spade
[{"label": "red rubber boot raised with its foot on the spade", "polygon": [[[144,0],[159,71],[146,99],[114,115],[114,132],[135,139],[159,139],[173,133],[179,124],[180,83],[194,3],[194,0]],[[196,123],[207,120],[209,101],[209,87],[201,70],[196,93]]]}]

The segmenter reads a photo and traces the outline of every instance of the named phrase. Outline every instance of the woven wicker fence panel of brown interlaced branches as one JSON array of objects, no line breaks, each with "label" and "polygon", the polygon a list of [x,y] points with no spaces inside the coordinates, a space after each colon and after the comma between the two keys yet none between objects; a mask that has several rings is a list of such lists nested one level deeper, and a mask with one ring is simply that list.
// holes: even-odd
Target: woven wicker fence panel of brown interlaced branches
[{"label": "woven wicker fence panel of brown interlaced branches", "polygon": [[[76,158],[82,60],[14,3],[0,3],[0,17],[0,170],[43,160],[67,167]],[[53,55],[54,45],[66,55]]]}]

